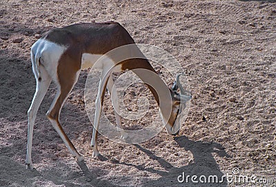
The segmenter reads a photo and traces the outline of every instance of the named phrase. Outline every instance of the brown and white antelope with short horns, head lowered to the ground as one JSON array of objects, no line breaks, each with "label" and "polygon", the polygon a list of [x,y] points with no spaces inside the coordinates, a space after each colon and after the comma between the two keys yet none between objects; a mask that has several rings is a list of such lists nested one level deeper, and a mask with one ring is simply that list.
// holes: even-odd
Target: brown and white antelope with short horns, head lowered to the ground
[{"label": "brown and white antelope with short horns, head lowered to the ground", "polygon": [[[115,48],[131,44],[135,45],[135,41],[130,37],[127,30],[119,23],[110,21],[104,23],[77,23],[63,28],[54,28],[42,35],[42,37],[32,45],[32,72],[34,73],[37,86],[28,110],[27,168],[33,168],[31,151],[34,121],[37,116],[37,110],[39,109],[43,97],[46,95],[51,81],[54,81],[57,86],[57,94],[46,116],[64,144],[66,144],[72,156],[75,157],[78,162],[83,161],[83,157],[77,152],[75,146],[63,131],[59,122],[59,114],[66,98],[78,80],[80,71],[87,68],[100,68],[102,70],[97,99],[95,101],[95,121],[91,140],[93,157],[99,157],[97,148],[97,129],[99,126],[104,92],[106,88],[108,92],[110,92],[114,85],[112,77],[110,77],[112,72],[122,72],[126,70],[135,72],[135,74],[146,83],[150,92],[152,92],[155,97],[161,110],[162,117],[164,121],[166,121],[166,130],[168,134],[176,135],[179,132],[180,127],[176,119],[181,112],[180,104],[191,98],[191,96],[186,93],[183,86],[181,86],[179,75],[177,75],[177,80],[174,82],[172,88],[168,88],[147,59],[126,59],[117,63],[115,62],[115,57],[112,58],[112,55],[105,55]],[[138,48],[128,52],[136,52],[142,55]],[[99,61],[103,56],[105,56],[104,60]],[[157,78],[152,80],[148,75],[136,70],[137,68],[148,70],[157,75]],[[159,89],[155,90],[153,86]],[[178,88],[180,93],[177,92]],[[169,99],[166,98],[161,100],[158,93],[162,95],[163,92],[168,92],[172,101],[169,102]],[[116,98],[114,100],[116,100]],[[164,109],[162,110],[162,103],[164,103],[164,106],[170,106],[171,110],[166,112],[166,107],[163,107]],[[121,129],[121,138],[126,139],[127,135],[121,126],[121,118],[116,112],[118,111],[118,106],[116,102],[113,103],[112,101],[112,104],[115,109],[117,128]],[[166,113],[168,113],[168,115],[166,115]]]}]

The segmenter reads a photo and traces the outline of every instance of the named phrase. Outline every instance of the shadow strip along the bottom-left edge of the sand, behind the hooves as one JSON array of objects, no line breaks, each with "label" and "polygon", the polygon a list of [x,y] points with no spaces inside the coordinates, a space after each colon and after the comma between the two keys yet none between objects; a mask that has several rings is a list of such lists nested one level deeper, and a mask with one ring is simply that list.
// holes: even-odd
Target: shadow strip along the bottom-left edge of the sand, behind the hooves
[{"label": "shadow strip along the bottom-left edge of the sand, behind the hooves", "polygon": [[117,186],[108,180],[99,179],[101,174],[105,173],[103,170],[98,168],[89,170],[84,163],[79,166],[82,172],[72,170],[62,163],[59,163],[58,168],[27,170],[23,164],[9,157],[0,156],[0,186]]}]

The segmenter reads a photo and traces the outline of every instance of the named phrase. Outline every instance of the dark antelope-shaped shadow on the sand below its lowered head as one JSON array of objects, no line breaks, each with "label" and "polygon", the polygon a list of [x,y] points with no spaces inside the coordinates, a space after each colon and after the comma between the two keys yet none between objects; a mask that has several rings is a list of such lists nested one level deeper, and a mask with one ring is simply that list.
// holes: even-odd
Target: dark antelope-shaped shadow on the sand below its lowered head
[{"label": "dark antelope-shaped shadow on the sand below its lowered head", "polygon": [[[147,180],[143,186],[227,186],[226,178],[221,180],[224,173],[219,169],[219,165],[215,161],[212,153],[216,153],[219,157],[230,157],[224,148],[215,142],[203,142],[203,141],[193,141],[188,139],[186,136],[175,137],[177,144],[184,148],[185,150],[190,150],[193,153],[194,160],[187,166],[174,167],[172,164],[168,163],[165,159],[157,157],[150,150],[142,148],[136,145],[139,150],[143,151],[150,157],[158,161],[158,163],[166,170],[156,170],[154,168],[145,168],[142,165],[134,165],[125,162],[119,162],[118,164],[124,164],[127,166],[134,166],[138,170],[146,170],[150,173],[156,173],[161,177],[157,180]],[[181,155],[181,154],[180,154]],[[181,157],[181,156],[179,156]],[[183,173],[185,174],[183,178]],[[182,175],[179,177],[179,175]],[[188,177],[190,175],[190,177]],[[191,176],[197,175],[197,181],[201,177],[201,181],[206,179],[206,182],[199,181],[198,183],[191,181]],[[180,181],[184,180],[182,183],[177,181],[179,177]],[[188,177],[188,181],[186,181]],[[209,182],[210,179],[210,182]]]}]

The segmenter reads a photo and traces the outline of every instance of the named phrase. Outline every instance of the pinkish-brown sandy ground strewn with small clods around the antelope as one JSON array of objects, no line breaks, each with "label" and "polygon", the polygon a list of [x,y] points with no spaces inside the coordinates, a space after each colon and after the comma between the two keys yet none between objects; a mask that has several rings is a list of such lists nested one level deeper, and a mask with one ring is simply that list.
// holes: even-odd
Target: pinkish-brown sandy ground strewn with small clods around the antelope
[{"label": "pinkish-brown sandy ground strewn with small clods around the antelope", "polygon": [[[275,1],[66,2],[0,3],[0,186],[275,186]],[[35,169],[26,170],[27,110],[35,90],[30,46],[51,28],[110,20],[121,23],[137,43],[164,48],[184,68],[193,100],[179,136],[163,130],[136,146],[100,136],[105,159],[93,159],[83,99],[88,71],[83,71],[61,124],[86,165],[76,164],[46,119],[55,97],[52,84],[34,127]],[[112,113],[108,96],[104,111]],[[123,123],[141,128],[150,116]],[[221,177],[234,168],[274,184],[177,181],[183,172]]]}]

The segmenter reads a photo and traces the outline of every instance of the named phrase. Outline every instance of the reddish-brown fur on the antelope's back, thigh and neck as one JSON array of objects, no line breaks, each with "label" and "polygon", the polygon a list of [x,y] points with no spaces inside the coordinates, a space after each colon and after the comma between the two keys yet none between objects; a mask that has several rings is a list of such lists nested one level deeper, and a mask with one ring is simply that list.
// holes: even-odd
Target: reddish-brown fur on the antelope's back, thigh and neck
[{"label": "reddish-brown fur on the antelope's back, thigh and neck", "polygon": [[[81,35],[79,35],[81,33]],[[73,150],[73,155],[79,155],[66,133],[63,131],[59,123],[59,111],[65,101],[66,97],[75,86],[75,81],[79,75],[77,72],[81,69],[81,56],[83,53],[103,55],[127,44],[135,43],[128,32],[119,24],[115,22],[106,23],[79,23],[64,28],[55,28],[50,30],[43,36],[43,39],[52,41],[61,46],[68,46],[68,49],[61,55],[57,66],[58,81],[60,84],[60,95],[58,96],[55,106],[48,112],[48,118],[57,121],[58,128],[61,130],[61,137],[69,142],[70,148]],[[137,48],[141,57],[144,55]],[[128,59],[121,61],[121,70],[135,70],[136,68],[148,69],[157,73],[146,59]],[[143,75],[138,75],[143,80]],[[163,82],[164,83],[164,82]],[[148,85],[159,105],[159,97],[157,91]],[[104,85],[104,90],[106,85]],[[169,91],[173,95],[172,90]],[[101,104],[103,104],[104,95],[101,96]],[[175,97],[172,97],[175,103]],[[175,106],[173,106],[175,107]],[[177,114],[170,114],[168,123],[173,126]],[[96,132],[97,137],[97,132]]]}]

